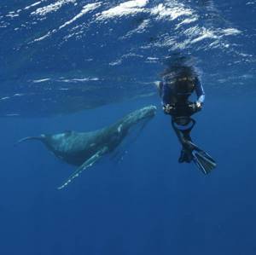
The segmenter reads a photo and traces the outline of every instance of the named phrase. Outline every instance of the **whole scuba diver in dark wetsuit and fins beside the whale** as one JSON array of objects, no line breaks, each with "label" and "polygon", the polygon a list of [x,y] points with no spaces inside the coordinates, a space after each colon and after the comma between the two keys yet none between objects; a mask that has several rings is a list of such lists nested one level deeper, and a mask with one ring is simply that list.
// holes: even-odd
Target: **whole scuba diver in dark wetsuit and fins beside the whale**
[{"label": "whole scuba diver in dark wetsuit and fins beside the whale", "polygon": [[[209,154],[198,148],[190,136],[195,126],[195,119],[191,116],[201,111],[205,100],[203,87],[194,68],[169,67],[162,73],[162,81],[157,86],[163,111],[172,116],[172,128],[182,145],[178,162],[193,161],[204,174],[210,173],[216,167],[216,162]],[[194,94],[197,97],[196,101],[189,101],[190,96]]]}]

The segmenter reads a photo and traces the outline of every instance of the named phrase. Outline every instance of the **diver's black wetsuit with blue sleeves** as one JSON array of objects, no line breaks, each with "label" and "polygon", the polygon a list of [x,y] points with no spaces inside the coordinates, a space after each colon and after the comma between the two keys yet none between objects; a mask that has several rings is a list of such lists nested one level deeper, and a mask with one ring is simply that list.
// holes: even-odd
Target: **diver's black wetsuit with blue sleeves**
[{"label": "diver's black wetsuit with blue sleeves", "polygon": [[160,84],[160,96],[162,98],[165,113],[172,116],[172,127],[175,130],[179,142],[183,148],[178,161],[191,162],[192,154],[187,148],[187,142],[192,142],[190,131],[195,125],[195,119],[190,116],[201,110],[189,101],[193,94],[197,96],[197,101],[202,103],[205,99],[205,93],[198,78],[173,78],[171,81],[164,80]]}]

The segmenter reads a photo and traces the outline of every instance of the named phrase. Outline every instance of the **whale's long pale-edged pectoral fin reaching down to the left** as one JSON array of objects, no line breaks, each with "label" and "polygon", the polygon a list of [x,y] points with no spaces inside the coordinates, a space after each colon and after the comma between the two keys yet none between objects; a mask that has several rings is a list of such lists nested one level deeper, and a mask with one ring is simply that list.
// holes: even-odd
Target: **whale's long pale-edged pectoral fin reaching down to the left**
[{"label": "whale's long pale-edged pectoral fin reaching down to the left", "polygon": [[73,172],[73,174],[67,178],[67,181],[63,183],[58,189],[66,188],[66,186],[73,181],[74,178],[79,177],[85,169],[96,163],[98,159],[101,159],[102,155],[108,151],[107,147],[102,148],[96,154],[92,155],[90,159],[84,161],[83,165],[80,165],[79,168]]}]

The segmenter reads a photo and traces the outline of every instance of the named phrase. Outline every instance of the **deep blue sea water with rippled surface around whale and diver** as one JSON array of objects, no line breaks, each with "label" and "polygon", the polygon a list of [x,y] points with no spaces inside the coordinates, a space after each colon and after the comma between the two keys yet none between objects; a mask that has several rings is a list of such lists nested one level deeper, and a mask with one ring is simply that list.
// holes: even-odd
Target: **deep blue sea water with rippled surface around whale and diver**
[{"label": "deep blue sea water with rippled surface around whale and diver", "polygon": [[[0,253],[255,254],[256,2],[124,2],[1,3]],[[209,176],[177,163],[155,93],[174,54],[193,62],[207,93],[192,136],[218,162]],[[14,146],[149,104],[157,114],[122,158],[61,191],[75,167],[38,142]]]}]

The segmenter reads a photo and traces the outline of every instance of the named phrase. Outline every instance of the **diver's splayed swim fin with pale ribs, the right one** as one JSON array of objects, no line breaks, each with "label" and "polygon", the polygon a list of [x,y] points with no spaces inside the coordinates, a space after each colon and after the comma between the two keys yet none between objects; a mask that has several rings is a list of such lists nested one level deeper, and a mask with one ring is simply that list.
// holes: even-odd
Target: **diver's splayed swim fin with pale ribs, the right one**
[{"label": "diver's splayed swim fin with pale ribs, the right one", "polygon": [[209,174],[217,166],[215,160],[201,148],[198,148],[193,142],[187,141],[186,143],[191,149],[195,165],[197,165],[204,174]]}]

